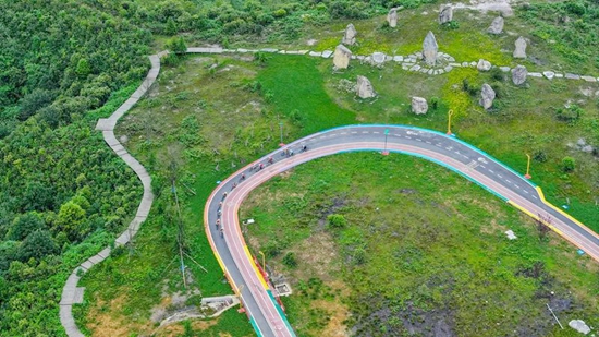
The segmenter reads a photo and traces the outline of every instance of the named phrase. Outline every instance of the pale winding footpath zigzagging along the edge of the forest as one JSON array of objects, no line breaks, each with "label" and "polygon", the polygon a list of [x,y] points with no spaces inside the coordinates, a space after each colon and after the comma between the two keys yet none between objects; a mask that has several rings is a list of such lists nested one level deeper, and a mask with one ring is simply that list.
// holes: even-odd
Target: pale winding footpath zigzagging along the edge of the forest
[{"label": "pale winding footpath zigzagging along the edge of the forest", "polygon": [[[131,221],[127,229],[117,238],[114,241],[114,245],[123,245],[126,244],[137,233],[139,230],[139,226],[142,222],[146,220],[148,217],[151,203],[154,201],[154,194],[151,193],[151,178],[146,171],[146,169],[137,161],[132,155],[127,153],[127,151],[123,147],[123,145],[117,140],[114,136],[114,127],[117,125],[117,122],[123,115],[129,111],[136,103],[142,98],[148,88],[151,86],[154,81],[156,81],[156,77],[158,77],[158,73],[160,72],[160,57],[163,56],[166,52],[159,52],[157,55],[152,55],[149,57],[151,62],[151,69],[148,72],[148,75],[142,82],[142,85],[131,95],[131,97],[123,103],[114,111],[109,118],[102,118],[98,120],[98,123],[96,124],[96,130],[99,130],[102,132],[103,139],[106,143],[117,153],[121,159],[123,159],[129,167],[131,167],[137,177],[139,177],[139,180],[142,181],[142,184],[144,185],[144,196],[142,197],[142,202],[139,203],[139,207],[137,208],[137,213],[135,214],[135,218]],[[64,330],[66,332],[66,335],[70,337],[84,337],[84,335],[78,329],[77,325],[75,324],[75,320],[73,318],[73,304],[82,303],[83,302],[83,292],[85,288],[77,287],[77,282],[80,281],[80,278],[85,274],[89,268],[91,268],[94,265],[105,261],[110,255],[110,248],[103,249],[98,254],[89,257],[87,261],[78,265],[73,273],[69,276],[66,279],[66,284],[64,285],[64,288],[62,288],[62,297],[60,300],[60,323],[64,327]]]}]

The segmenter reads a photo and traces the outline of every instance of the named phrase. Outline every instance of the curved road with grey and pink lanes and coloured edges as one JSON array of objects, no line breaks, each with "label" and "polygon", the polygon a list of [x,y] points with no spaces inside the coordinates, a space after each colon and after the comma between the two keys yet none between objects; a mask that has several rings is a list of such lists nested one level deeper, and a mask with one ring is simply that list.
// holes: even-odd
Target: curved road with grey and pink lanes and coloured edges
[{"label": "curved road with grey and pink lanes and coloured edges", "polygon": [[[302,152],[304,145],[308,151]],[[547,203],[540,189],[519,173],[453,136],[404,125],[350,125],[332,129],[288,144],[240,169],[221,182],[207,201],[204,221],[210,244],[234,291],[241,297],[258,336],[295,334],[277,304],[272,290],[257,270],[245,244],[237,216],[243,200],[261,183],[300,164],[343,152],[384,148],[421,157],[461,173],[529,216],[540,218],[564,239],[599,261],[597,233]],[[292,149],[295,155],[284,156],[285,149]],[[268,163],[269,157],[272,157],[272,164]],[[265,166],[264,169],[250,169],[260,164]],[[242,174],[245,174],[245,179]],[[217,219],[220,219],[218,228]]]}]

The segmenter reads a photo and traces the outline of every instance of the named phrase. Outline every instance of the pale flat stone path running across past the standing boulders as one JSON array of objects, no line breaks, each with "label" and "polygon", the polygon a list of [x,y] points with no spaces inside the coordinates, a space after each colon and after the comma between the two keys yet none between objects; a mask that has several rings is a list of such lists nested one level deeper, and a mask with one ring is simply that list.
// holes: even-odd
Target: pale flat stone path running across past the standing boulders
[{"label": "pale flat stone path running across past the standing boulders", "polygon": [[[224,48],[187,48],[188,53],[245,53],[245,52],[271,52],[271,53],[284,53],[284,55],[308,55],[310,57],[317,57],[317,58],[325,58],[328,59],[332,57],[333,51],[332,50],[325,50],[325,51],[311,51],[311,50],[280,50],[276,48],[262,48],[262,49],[245,49],[245,48],[237,48],[237,49],[224,49]],[[439,52],[439,56],[444,59],[444,64],[437,67],[437,68],[427,68],[423,64],[419,64],[418,61],[421,60],[423,56],[421,52],[414,52],[408,56],[402,56],[402,55],[384,55],[382,52],[372,52],[372,55],[364,56],[364,55],[352,55],[353,60],[359,60],[360,62],[367,62],[374,65],[381,65],[384,62],[395,62],[400,65],[402,65],[403,70],[413,71],[413,72],[420,72],[426,73],[429,75],[439,75],[447,72],[450,72],[454,68],[476,68],[478,64],[478,60],[476,61],[464,61],[464,62],[456,62],[453,57],[451,57],[448,53]],[[503,72],[509,72],[512,70],[512,68],[506,65],[492,65],[492,68],[499,68]],[[567,79],[567,80],[582,80],[586,82],[599,82],[599,76],[590,76],[590,75],[580,75],[580,74],[573,74],[573,73],[560,73],[554,72],[551,70],[541,71],[541,72],[529,72],[528,76],[530,77],[545,77],[548,80],[553,79]]]}]

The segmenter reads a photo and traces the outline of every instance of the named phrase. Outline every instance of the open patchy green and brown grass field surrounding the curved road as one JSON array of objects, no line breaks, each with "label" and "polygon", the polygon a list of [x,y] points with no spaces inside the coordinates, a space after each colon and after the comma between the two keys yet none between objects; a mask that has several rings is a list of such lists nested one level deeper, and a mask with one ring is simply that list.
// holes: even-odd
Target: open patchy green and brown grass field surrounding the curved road
[{"label": "open patchy green and brown grass field surrounding the curved road", "polygon": [[[480,31],[488,23],[460,15],[459,29],[438,34],[441,50],[451,41],[444,51],[456,58],[511,62],[501,49],[513,41],[481,33],[466,39],[467,29]],[[416,51],[430,22],[404,19],[405,26],[398,32],[379,32],[374,20],[355,23],[365,37],[380,35],[355,51]],[[321,29],[317,47],[334,47],[333,36],[345,24]],[[421,34],[402,31],[412,25]],[[447,111],[454,109],[459,118],[452,129],[457,136],[515,170],[524,172],[526,153],[542,154],[533,163],[534,181],[557,205],[569,198],[569,212],[599,230],[597,158],[567,146],[579,137],[599,145],[599,107],[596,98],[583,94],[588,87],[598,91],[596,84],[530,79],[515,87],[498,73],[454,70],[431,77],[392,64],[374,69],[356,62],[333,73],[331,60],[268,57],[265,64],[247,55],[187,57],[178,67],[163,67],[150,95],[119,124],[118,136],[129,137],[125,146],[152,174],[157,201],[134,244],[83,278],[86,298],[76,317],[89,333],[185,333],[183,325],[158,329],[149,320],[152,308],[174,310],[169,306],[172,294],[185,291],[175,240],[180,218],[173,180],[182,205],[185,250],[195,261],[184,262],[191,272],[190,289],[203,296],[231,293],[204,233],[204,203],[217,181],[277,148],[280,122],[285,142],[351,123],[444,131]],[[372,81],[377,99],[363,101],[338,88],[341,80],[354,81],[357,74]],[[464,91],[465,79],[475,89],[484,82],[498,88],[490,112]],[[435,98],[438,107],[414,116],[408,105],[415,95],[429,104]],[[557,120],[557,110],[566,103],[584,110],[577,121]],[[565,156],[576,160],[573,172],[562,171]],[[524,335],[567,336],[551,325],[543,311],[543,301],[563,306],[566,300],[570,306],[559,312],[564,321],[585,317],[598,323],[592,321],[598,316],[595,263],[577,257],[573,246],[557,237],[539,241],[533,222],[515,209],[432,164],[374,154],[322,159],[273,179],[244,207],[243,215],[259,222],[247,241],[254,250],[272,249],[270,264],[292,279],[296,294],[285,299],[285,305],[303,336],[328,336],[345,327],[372,336],[412,327],[427,335],[435,324],[468,336],[498,329],[510,335],[518,326]],[[330,212],[342,214],[347,226],[329,230],[323,218]],[[508,228],[519,239],[508,241],[502,233]],[[295,253],[297,267],[282,265],[288,252]],[[548,296],[550,291],[555,296]],[[389,313],[395,318],[390,320]],[[479,316],[485,324],[473,324]],[[539,325],[534,323],[537,318]],[[187,329],[219,336],[225,326],[235,326],[228,332],[232,336],[253,334],[245,315],[234,311],[216,324],[193,323]]]}]

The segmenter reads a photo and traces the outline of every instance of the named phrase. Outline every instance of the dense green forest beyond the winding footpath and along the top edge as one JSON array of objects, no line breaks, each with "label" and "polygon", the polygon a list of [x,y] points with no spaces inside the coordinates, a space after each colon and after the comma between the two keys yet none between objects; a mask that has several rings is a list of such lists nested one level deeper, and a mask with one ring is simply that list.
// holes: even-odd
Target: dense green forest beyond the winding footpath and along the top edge
[{"label": "dense green forest beyond the winding footpath and along the top edge", "polygon": [[[94,127],[136,88],[166,40],[276,44],[306,26],[433,2],[1,1],[0,336],[63,335],[58,303],[69,273],[131,220],[142,186]],[[597,0],[533,4],[522,15],[557,52],[595,58],[599,69]]]}]

